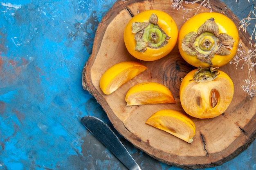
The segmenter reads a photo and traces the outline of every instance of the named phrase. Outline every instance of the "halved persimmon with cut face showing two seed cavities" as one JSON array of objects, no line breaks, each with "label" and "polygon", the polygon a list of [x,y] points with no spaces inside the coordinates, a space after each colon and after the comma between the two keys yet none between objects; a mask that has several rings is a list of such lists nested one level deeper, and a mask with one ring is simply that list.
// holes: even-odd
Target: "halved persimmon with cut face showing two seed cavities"
[{"label": "halved persimmon with cut face showing two seed cavities", "polygon": [[213,118],[227,110],[234,95],[231,78],[217,68],[189,72],[180,85],[180,103],[186,113],[200,119]]}]

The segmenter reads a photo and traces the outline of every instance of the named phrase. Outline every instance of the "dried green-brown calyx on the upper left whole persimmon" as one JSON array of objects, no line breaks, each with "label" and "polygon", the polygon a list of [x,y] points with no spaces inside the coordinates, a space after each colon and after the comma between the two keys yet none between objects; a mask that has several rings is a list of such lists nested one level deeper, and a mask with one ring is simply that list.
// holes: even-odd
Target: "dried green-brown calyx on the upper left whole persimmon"
[{"label": "dried green-brown calyx on the upper left whole persimmon", "polygon": [[145,52],[147,47],[158,49],[168,44],[170,37],[157,25],[158,17],[153,13],[149,22],[133,22],[132,33],[135,33],[135,51]]}]

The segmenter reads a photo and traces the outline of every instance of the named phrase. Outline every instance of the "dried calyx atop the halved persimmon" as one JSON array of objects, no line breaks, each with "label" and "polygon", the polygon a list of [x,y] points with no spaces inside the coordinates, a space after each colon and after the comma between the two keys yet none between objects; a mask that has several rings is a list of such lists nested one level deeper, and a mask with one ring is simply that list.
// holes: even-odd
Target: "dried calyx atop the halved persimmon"
[{"label": "dried calyx atop the halved persimmon", "polygon": [[208,67],[208,68],[201,68],[199,67],[198,70],[194,74],[194,78],[191,79],[195,82],[210,82],[220,74],[217,70],[218,67]]}]

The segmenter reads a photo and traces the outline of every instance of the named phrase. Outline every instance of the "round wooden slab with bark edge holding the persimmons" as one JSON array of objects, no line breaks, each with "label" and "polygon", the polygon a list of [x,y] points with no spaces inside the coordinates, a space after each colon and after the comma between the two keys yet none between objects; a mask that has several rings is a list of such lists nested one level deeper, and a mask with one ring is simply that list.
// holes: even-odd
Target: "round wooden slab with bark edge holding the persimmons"
[{"label": "round wooden slab with bark edge holding the persimmons", "polygon": [[[167,132],[145,124],[156,111],[174,109],[184,113],[179,99],[179,87],[182,78],[195,69],[187,64],[179,54],[177,45],[166,57],[145,62],[132,57],[124,45],[124,28],[132,15],[148,9],[165,11],[175,20],[178,29],[194,15],[194,11],[184,16],[184,10],[172,9],[170,0],[127,0],[117,1],[99,23],[92,55],[83,70],[83,88],[89,91],[106,111],[117,131],[155,159],[184,169],[198,169],[218,166],[236,157],[254,141],[256,136],[256,99],[249,100],[241,85],[247,77],[247,69],[236,69],[235,64],[222,66],[234,82],[234,98],[224,114],[213,119],[196,119],[196,134],[193,143],[188,144]],[[214,12],[227,15],[239,28],[238,18],[219,0],[211,1]],[[199,4],[185,4],[193,9]],[[209,12],[201,7],[198,13]],[[184,16],[184,17],[183,17]],[[240,33],[240,43],[247,51],[247,33]],[[101,75],[114,64],[123,61],[137,61],[148,67],[128,83],[110,95],[104,95],[99,88]],[[255,74],[255,71],[253,72]],[[255,75],[253,75],[255,76]],[[126,106],[124,100],[128,89],[141,82],[158,82],[167,86],[176,100],[176,104],[155,104]]]}]

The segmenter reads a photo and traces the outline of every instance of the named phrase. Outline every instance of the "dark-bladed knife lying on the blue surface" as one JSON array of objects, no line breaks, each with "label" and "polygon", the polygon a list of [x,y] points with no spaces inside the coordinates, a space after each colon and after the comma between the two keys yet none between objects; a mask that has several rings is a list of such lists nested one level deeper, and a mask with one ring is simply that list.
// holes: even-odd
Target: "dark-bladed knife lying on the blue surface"
[{"label": "dark-bladed knife lying on the blue surface", "polygon": [[82,117],[81,122],[126,168],[141,170],[117,135],[105,122],[94,116]]}]

